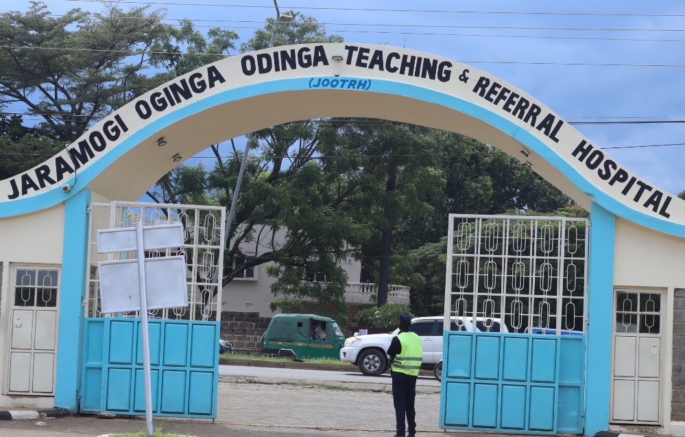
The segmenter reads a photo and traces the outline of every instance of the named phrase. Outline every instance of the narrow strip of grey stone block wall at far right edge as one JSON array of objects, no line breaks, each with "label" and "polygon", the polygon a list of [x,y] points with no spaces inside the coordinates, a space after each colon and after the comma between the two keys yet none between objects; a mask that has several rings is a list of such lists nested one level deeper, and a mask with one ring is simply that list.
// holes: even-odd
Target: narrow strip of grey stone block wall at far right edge
[{"label": "narrow strip of grey stone block wall at far right edge", "polygon": [[[663,323],[663,322],[662,322]],[[673,298],[673,373],[671,420],[685,421],[685,289],[676,288]]]}]

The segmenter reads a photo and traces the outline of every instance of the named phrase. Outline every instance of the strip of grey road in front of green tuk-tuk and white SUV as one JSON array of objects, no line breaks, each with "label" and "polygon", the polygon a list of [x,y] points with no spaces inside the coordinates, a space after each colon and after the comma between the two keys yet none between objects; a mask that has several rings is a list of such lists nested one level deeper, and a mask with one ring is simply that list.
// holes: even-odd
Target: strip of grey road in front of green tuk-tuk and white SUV
[{"label": "strip of grey road in front of green tuk-tuk and white SUV", "polygon": [[[366,377],[359,372],[336,372],[331,370],[304,370],[293,368],[250,367],[250,366],[219,366],[221,376],[267,377],[285,379],[304,379],[309,381],[337,381],[390,384],[390,375]],[[419,386],[440,387],[440,381],[431,377],[419,377]]]}]

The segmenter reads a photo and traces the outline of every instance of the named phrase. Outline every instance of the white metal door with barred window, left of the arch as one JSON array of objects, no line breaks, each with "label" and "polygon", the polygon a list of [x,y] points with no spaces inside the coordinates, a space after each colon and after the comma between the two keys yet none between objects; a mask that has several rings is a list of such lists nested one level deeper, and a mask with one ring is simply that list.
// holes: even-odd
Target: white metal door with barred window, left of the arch
[{"label": "white metal door with barred window, left of the arch", "polygon": [[59,280],[56,268],[12,271],[8,394],[54,393]]}]

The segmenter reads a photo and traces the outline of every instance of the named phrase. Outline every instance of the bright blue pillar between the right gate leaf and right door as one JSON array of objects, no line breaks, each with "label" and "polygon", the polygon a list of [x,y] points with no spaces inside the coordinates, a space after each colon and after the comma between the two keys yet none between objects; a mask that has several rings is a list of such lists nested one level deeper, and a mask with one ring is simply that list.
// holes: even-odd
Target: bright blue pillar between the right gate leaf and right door
[{"label": "bright blue pillar between the right gate leaf and right door", "polygon": [[615,239],[616,216],[593,203],[588,269],[586,436],[609,429]]}]

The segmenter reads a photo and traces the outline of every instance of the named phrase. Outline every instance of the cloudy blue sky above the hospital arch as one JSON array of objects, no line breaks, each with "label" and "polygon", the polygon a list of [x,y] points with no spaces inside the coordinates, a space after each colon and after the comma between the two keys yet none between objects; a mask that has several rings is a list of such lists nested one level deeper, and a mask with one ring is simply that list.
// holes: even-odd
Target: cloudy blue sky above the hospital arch
[{"label": "cloudy blue sky above the hospital arch", "polygon": [[[0,12],[25,10],[19,3],[3,1]],[[71,8],[94,12],[102,8],[100,3],[87,0],[46,0],[45,3],[53,14],[62,14]],[[120,6],[128,8],[139,3],[122,2]],[[278,3],[281,12],[296,10],[314,16],[326,24],[329,33],[339,34],[348,42],[404,46],[472,63],[540,99],[566,121],[685,120],[685,1],[682,0],[280,0]],[[155,0],[151,8],[166,8],[169,23],[176,23],[173,19],[194,20],[202,31],[212,26],[234,28],[243,40],[250,38],[254,29],[263,27],[267,16],[275,15],[272,0]],[[685,143],[685,123],[577,125],[575,128],[599,147]],[[228,147],[222,150],[228,151]],[[612,149],[608,153],[666,191],[677,194],[685,189],[685,172],[681,169],[685,145]]]}]

